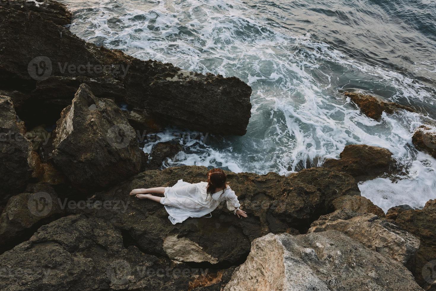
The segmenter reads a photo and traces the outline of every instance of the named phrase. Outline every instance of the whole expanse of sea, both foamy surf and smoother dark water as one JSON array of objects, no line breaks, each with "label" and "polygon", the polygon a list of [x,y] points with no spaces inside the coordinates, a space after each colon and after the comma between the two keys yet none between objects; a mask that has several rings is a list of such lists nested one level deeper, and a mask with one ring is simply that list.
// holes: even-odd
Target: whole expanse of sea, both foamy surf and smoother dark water
[{"label": "whole expanse of sea, both foamy surf and smoother dark water", "polygon": [[[436,161],[411,141],[417,127],[436,119],[434,1],[63,2],[74,13],[71,30],[87,41],[252,86],[244,137],[180,139],[185,151],[164,166],[286,174],[338,157],[347,144],[370,144],[392,151],[403,173],[359,185],[362,195],[385,210],[436,198]],[[419,113],[376,122],[344,98],[344,89]]]}]

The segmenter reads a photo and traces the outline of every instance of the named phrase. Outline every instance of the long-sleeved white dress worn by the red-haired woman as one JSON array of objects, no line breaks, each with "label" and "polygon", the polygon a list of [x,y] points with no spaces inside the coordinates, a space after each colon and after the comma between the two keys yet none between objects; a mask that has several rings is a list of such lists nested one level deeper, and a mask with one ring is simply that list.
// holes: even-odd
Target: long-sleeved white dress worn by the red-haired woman
[{"label": "long-sleeved white dress worn by the red-haired woman", "polygon": [[[160,203],[167,210],[171,223],[182,223],[188,217],[208,215],[218,207],[220,202],[227,201],[228,210],[236,210],[240,204],[235,192],[227,186],[224,191],[207,195],[207,182],[191,184],[183,180],[177,181],[173,187],[166,187],[164,198]],[[207,199],[206,199],[207,195]]]}]

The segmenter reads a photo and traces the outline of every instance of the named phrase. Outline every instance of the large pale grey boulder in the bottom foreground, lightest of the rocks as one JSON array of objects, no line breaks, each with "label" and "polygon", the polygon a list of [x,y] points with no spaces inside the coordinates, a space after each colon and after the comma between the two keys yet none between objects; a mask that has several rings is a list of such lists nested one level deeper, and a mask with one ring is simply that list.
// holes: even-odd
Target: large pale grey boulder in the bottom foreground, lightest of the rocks
[{"label": "large pale grey boulder in the bottom foreground, lightest of the rocks", "polygon": [[337,231],[253,241],[224,291],[421,290],[409,270]]}]

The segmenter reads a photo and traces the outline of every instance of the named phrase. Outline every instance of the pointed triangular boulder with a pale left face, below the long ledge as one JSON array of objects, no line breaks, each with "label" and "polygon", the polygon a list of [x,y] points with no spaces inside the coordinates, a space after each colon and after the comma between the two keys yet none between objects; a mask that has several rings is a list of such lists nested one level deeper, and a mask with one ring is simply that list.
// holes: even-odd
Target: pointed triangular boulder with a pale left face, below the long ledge
[{"label": "pointed triangular boulder with a pale left face, below the long ledge", "polygon": [[82,192],[114,185],[140,171],[143,152],[119,107],[87,85],[58,120],[52,161]]}]

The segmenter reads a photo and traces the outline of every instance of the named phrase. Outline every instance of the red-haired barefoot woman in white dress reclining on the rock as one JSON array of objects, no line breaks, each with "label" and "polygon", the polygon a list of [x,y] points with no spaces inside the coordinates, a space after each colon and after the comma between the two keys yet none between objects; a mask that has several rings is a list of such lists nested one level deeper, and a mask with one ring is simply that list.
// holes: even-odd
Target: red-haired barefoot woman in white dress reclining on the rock
[{"label": "red-haired barefoot woman in white dress reclining on the rock", "polygon": [[[227,208],[233,210],[239,218],[247,217],[247,213],[239,209],[238,197],[227,185],[226,180],[224,171],[212,169],[208,172],[207,182],[191,184],[179,180],[173,187],[134,189],[130,195],[163,204],[173,224],[181,223],[188,217],[210,214],[224,200],[227,201]],[[164,197],[143,193],[164,194]]]}]

